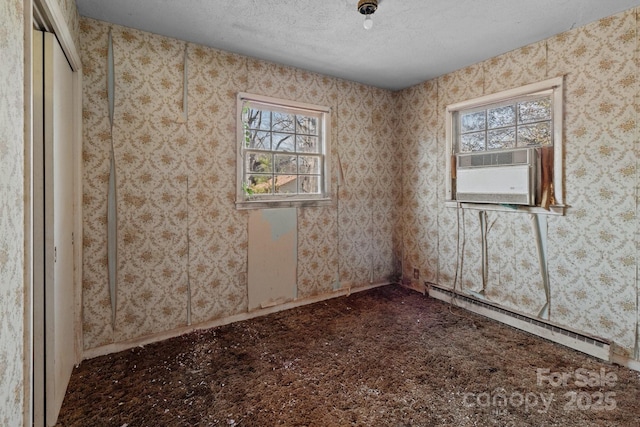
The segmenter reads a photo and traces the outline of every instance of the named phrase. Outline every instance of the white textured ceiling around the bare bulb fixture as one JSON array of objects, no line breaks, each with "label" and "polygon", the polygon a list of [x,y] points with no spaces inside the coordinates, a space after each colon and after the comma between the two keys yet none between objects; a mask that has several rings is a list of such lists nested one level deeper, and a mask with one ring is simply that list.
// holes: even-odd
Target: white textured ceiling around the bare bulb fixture
[{"label": "white textured ceiling around the bare bulb fixture", "polygon": [[402,89],[638,6],[639,0],[76,0],[103,21]]}]

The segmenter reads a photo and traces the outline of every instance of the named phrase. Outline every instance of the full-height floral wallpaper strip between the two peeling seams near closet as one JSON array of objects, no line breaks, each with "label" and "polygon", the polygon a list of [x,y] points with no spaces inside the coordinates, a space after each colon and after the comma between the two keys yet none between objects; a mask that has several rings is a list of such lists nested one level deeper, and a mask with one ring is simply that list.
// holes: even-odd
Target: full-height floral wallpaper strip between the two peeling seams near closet
[{"label": "full-height floral wallpaper strip between the two peeling seams near closet", "polygon": [[[115,339],[123,341],[173,329],[187,318],[190,159],[184,149],[187,124],[179,120],[183,44],[119,27],[112,32],[118,70],[113,141],[120,292]],[[125,327],[131,324],[134,330]]]}]

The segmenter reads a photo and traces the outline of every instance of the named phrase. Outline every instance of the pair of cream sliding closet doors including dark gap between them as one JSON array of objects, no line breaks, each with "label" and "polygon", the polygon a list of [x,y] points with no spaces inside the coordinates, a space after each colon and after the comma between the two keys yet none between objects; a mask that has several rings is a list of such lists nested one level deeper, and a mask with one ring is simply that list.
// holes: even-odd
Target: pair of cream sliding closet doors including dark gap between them
[{"label": "pair of cream sliding closet doors including dark gap between them", "polygon": [[33,100],[34,251],[40,252],[34,256],[34,421],[40,424],[44,415],[52,426],[75,362],[74,88],[53,34],[34,33],[36,63],[42,66],[34,66]]}]

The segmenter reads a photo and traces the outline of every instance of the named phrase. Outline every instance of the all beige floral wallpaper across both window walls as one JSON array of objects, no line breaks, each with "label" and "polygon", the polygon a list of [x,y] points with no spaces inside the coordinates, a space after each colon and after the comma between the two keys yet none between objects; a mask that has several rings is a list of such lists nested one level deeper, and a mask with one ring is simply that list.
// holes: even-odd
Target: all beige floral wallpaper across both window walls
[{"label": "all beige floral wallpaper across both window walls", "polygon": [[[418,286],[482,291],[490,301],[536,316],[546,295],[535,218],[444,204],[445,108],[564,75],[569,207],[566,215],[541,221],[550,320],[610,339],[633,356],[639,320],[637,12],[395,93],[81,18],[85,349],[247,310],[247,214],[234,205],[238,92],[331,107],[335,204],[298,209],[298,297],[402,273]],[[110,30],[113,134],[106,101]],[[106,268],[112,136],[120,215],[115,328]],[[484,278],[481,223],[487,225]]]}]

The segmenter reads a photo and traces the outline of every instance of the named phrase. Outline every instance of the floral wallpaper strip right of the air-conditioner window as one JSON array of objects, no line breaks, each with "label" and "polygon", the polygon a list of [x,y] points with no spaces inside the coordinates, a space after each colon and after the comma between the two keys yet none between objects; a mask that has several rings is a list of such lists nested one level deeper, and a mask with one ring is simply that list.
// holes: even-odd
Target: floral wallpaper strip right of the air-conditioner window
[{"label": "floral wallpaper strip right of the air-conditioner window", "polygon": [[[566,74],[565,221],[550,222],[555,316],[632,351],[637,340],[638,38],[629,10],[549,40]],[[560,52],[567,52],[561,56]],[[576,268],[578,267],[578,268]]]}]

